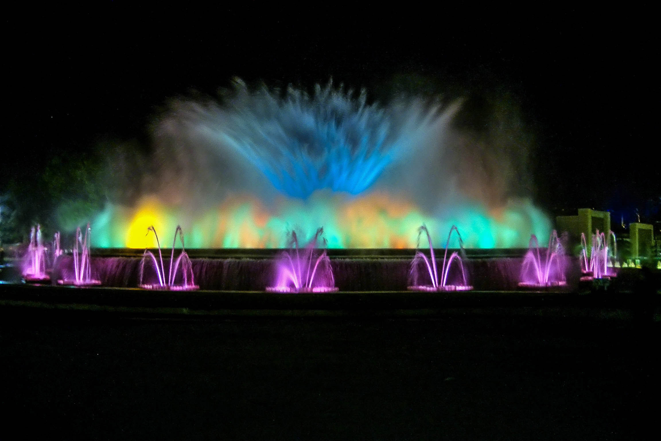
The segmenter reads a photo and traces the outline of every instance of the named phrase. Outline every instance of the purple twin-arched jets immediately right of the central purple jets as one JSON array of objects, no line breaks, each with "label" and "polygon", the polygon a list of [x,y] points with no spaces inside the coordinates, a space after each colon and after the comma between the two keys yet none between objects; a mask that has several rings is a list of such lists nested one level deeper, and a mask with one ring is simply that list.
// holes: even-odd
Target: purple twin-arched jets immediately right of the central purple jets
[{"label": "purple twin-arched jets immediately right of the central purple jets", "polygon": [[[449,246],[450,243],[450,237],[452,235],[452,231],[455,231],[457,233],[457,237],[459,238],[459,249],[463,253],[463,241],[461,241],[461,235],[459,234],[459,230],[455,225],[453,225],[447,234],[447,241],[446,241],[446,251],[445,255],[443,257],[443,266],[441,267],[441,274],[439,278],[438,270],[436,268],[436,258],[434,257],[434,247],[432,246],[432,239],[429,235],[429,230],[425,225],[422,225],[422,227],[418,228],[418,248],[420,247],[420,236],[422,233],[425,233],[427,235],[427,241],[429,242],[429,251],[431,258],[427,259],[427,256],[422,253],[422,251],[416,251],[415,257],[413,258],[413,262],[411,263],[411,269],[409,273],[409,278],[412,284],[408,286],[409,290],[412,291],[467,291],[467,290],[472,290],[473,286],[470,286],[467,282],[466,279],[466,271],[465,268],[463,267],[463,261],[461,261],[461,257],[459,256],[459,253],[457,251],[454,251],[449,259],[447,259],[447,247]],[[431,262],[430,262],[431,261]],[[419,269],[418,267],[422,265],[424,262],[423,267],[427,269],[427,272],[429,274],[429,284],[419,284],[418,279],[420,278],[418,273]],[[461,284],[447,284],[447,276],[450,272],[452,262],[456,262],[456,267],[461,270]],[[424,270],[423,270],[424,273]]]}]

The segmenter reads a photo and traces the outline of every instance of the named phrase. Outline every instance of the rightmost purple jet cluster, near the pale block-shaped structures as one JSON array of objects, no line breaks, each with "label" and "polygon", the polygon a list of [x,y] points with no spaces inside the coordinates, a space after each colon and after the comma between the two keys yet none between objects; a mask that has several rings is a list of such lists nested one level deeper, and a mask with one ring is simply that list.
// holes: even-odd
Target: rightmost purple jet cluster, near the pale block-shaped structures
[{"label": "rightmost purple jet cluster, near the pale block-shaped structures", "polygon": [[[609,240],[612,239],[613,247],[609,247]],[[615,233],[609,231],[606,236],[600,233],[592,235],[592,247],[590,247],[590,258],[588,259],[588,244],[585,234],[580,233],[581,240],[581,272],[584,274],[580,280],[583,282],[602,278],[611,278],[617,276],[613,269],[613,261],[617,258],[617,242]],[[609,253],[609,251],[613,251]]]}]

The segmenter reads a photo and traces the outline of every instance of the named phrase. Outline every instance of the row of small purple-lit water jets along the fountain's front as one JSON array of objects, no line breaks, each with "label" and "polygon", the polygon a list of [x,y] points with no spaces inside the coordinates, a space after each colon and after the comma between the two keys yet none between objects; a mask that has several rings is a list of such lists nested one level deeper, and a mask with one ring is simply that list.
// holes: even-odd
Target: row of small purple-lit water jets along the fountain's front
[{"label": "row of small purple-lit water jets along the fountain's front", "polygon": [[[139,264],[139,288],[147,290],[197,290],[192,270],[192,262],[184,247],[184,235],[180,226],[176,227],[175,238],[166,274],[163,264],[161,243],[153,226],[147,228],[147,235],[153,233],[158,245],[158,259],[156,255],[145,249]],[[449,257],[447,250],[452,234],[457,235],[459,251],[453,251]],[[430,257],[420,250],[420,239],[426,235],[429,244]],[[176,239],[179,238],[181,253],[175,259]],[[544,251],[539,248],[535,235],[531,235],[529,250],[527,251],[521,270],[523,288],[546,288],[566,285],[565,253],[560,237],[554,230],[549,239],[549,246]],[[581,233],[580,264],[583,276],[581,280],[603,280],[614,277],[617,245],[615,234],[612,231],[596,232],[592,235],[592,244],[588,249],[586,237]],[[267,292],[332,292],[338,290],[335,286],[331,261],[326,252],[326,240],[323,238],[323,228],[317,232],[304,247],[299,246],[295,233],[290,233],[290,247],[276,257],[276,283],[266,288]],[[446,241],[443,263],[437,268],[432,239],[426,226],[418,229],[418,249],[410,266],[409,290],[414,291],[466,291],[473,289],[468,282],[463,259],[463,241],[456,226],[451,227]],[[63,278],[58,284],[69,286],[95,286],[100,280],[93,278],[91,271],[91,227],[87,224],[85,233],[78,228],[75,235],[75,244],[71,249],[73,255],[73,272],[63,271]],[[589,250],[589,252],[588,252]],[[50,280],[49,259],[47,248],[42,241],[40,226],[32,227],[30,244],[24,259],[23,278],[26,282],[47,282]],[[55,233],[52,243],[52,266],[63,255],[60,247],[60,233]],[[145,282],[147,280],[148,282]],[[450,281],[450,282],[449,282]]]}]

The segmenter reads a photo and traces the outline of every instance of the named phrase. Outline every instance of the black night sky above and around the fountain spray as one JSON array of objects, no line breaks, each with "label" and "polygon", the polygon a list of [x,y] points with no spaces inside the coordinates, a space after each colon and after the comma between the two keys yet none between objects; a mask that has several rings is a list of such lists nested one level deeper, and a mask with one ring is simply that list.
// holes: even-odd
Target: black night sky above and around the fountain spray
[{"label": "black night sky above and around the fountain spray", "polygon": [[329,11],[108,2],[8,15],[0,184],[31,179],[54,153],[95,151],[108,139],[146,144],[165,100],[214,94],[234,76],[269,85],[332,77],[370,91],[420,76],[449,91],[516,97],[535,134],[534,198],[551,212],[629,209],[661,196],[649,11],[417,11],[387,20]]}]

